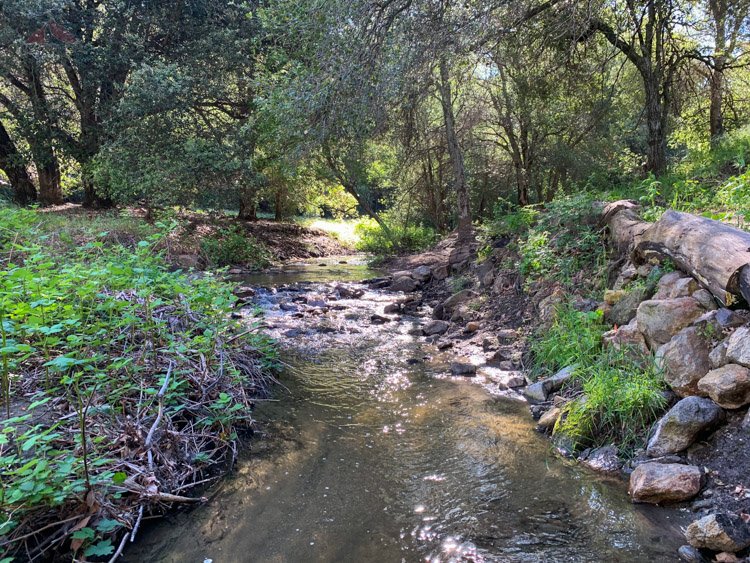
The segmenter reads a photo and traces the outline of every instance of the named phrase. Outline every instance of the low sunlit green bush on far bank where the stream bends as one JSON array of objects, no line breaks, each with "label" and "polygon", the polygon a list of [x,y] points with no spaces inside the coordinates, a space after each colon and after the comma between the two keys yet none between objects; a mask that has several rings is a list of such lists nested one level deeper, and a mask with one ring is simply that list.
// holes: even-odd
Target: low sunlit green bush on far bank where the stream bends
[{"label": "low sunlit green bush on far bank where the stream bends", "polygon": [[359,236],[356,249],[378,256],[419,252],[435,244],[437,233],[425,225],[389,225],[389,233],[373,219],[363,219],[355,227]]}]

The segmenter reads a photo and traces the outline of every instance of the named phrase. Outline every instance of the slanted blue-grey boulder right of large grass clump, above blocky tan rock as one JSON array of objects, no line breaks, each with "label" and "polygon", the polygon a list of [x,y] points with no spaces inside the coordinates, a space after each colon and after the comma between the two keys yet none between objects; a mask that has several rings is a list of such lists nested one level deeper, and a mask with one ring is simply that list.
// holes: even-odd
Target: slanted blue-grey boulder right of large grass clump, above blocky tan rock
[{"label": "slanted blue-grey boulder right of large grass clump, above blocky tan rock", "polygon": [[723,419],[724,411],[711,399],[682,399],[659,421],[646,453],[649,457],[661,457],[681,452]]}]

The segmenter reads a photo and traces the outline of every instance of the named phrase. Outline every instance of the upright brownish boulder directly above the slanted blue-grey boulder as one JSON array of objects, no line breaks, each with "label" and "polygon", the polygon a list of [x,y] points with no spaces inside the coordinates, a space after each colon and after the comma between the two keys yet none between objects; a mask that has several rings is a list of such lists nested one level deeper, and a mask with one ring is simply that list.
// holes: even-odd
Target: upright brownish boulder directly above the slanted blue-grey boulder
[{"label": "upright brownish boulder directly above the slanted blue-grey boulder", "polygon": [[698,381],[711,369],[710,341],[697,327],[680,331],[656,351],[664,380],[680,397],[698,394]]}]

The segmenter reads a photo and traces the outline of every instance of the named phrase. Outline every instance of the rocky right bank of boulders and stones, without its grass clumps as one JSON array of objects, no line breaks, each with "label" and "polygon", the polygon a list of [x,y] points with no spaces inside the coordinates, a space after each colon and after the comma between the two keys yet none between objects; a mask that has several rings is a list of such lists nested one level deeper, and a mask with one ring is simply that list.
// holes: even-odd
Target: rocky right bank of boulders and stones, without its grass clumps
[{"label": "rocky right bank of boulders and stones, without its grass clumps", "polygon": [[[645,259],[632,253],[634,238],[650,224],[636,221],[631,205],[623,210],[638,228],[628,236],[611,231],[619,253],[614,253],[617,262],[604,302],[574,297],[574,306],[603,309],[613,326],[603,337],[605,348],[654,358],[668,385],[669,404],[634,458],[619,459],[613,445],[584,451],[579,460],[622,474],[630,481],[634,502],[681,503],[692,510],[697,519],[686,533],[690,545],[681,550],[684,559],[746,556],[750,311],[740,306],[739,286],[732,296],[727,283],[719,298],[716,284],[707,283],[700,269],[687,268],[689,275],[671,270],[672,264],[653,252]],[[621,219],[606,217],[610,228]],[[423,325],[424,338],[453,355],[453,375],[484,376],[503,392],[524,397],[539,429],[551,431],[570,400],[566,389],[573,366],[532,382],[524,364],[525,339],[570,296],[551,285],[524,292],[518,274],[503,267],[509,251],[502,244],[482,263],[472,257],[469,245],[461,247],[456,239],[443,244],[423,263],[412,259],[410,269],[375,280],[377,287],[407,294],[388,311],[399,314],[404,303],[428,306],[434,319]],[[689,257],[681,260],[684,264]]]}]

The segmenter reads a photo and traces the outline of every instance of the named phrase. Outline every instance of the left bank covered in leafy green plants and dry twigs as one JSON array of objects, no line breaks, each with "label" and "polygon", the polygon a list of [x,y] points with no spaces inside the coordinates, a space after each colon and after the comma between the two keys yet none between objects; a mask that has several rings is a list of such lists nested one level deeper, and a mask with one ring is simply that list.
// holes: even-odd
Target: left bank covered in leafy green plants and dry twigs
[{"label": "left bank covered in leafy green plants and dry twigs", "polygon": [[110,556],[232,461],[269,384],[231,288],[168,271],[163,225],[112,241],[122,221],[0,210],[0,560]]}]

